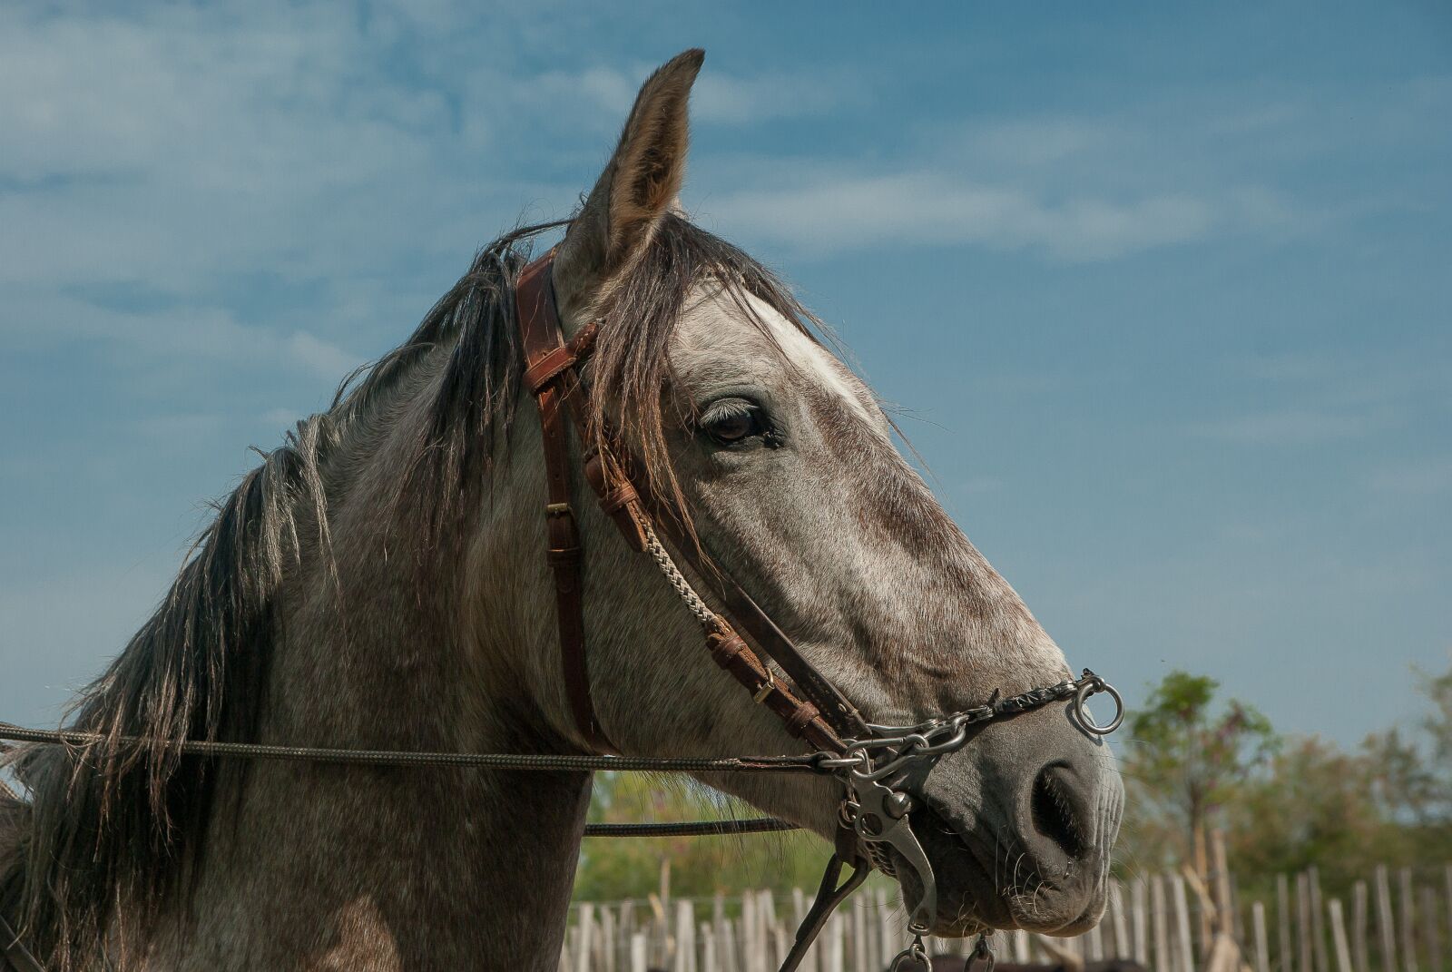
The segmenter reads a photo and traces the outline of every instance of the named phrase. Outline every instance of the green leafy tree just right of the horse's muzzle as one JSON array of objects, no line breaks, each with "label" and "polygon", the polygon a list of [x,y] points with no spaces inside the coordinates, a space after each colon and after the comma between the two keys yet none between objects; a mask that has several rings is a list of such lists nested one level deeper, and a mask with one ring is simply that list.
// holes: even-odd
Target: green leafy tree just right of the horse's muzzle
[{"label": "green leafy tree just right of the horse's muzzle", "polygon": [[1236,699],[1215,705],[1218,687],[1208,676],[1172,671],[1130,721],[1125,776],[1143,837],[1166,838],[1141,847],[1141,857],[1194,859],[1204,872],[1205,824],[1276,748],[1270,722],[1255,708]]}]

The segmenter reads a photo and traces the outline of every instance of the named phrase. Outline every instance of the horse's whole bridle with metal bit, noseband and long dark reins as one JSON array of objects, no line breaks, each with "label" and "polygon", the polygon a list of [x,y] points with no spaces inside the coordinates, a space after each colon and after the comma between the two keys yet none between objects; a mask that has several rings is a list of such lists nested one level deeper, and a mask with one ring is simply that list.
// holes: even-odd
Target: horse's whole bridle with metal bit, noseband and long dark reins
[{"label": "horse's whole bridle with metal bit, noseband and long dark reins", "polygon": [[[286,760],[353,766],[462,766],[479,769],[540,771],[640,771],[640,773],[815,773],[831,776],[842,786],[838,806],[835,851],[828,860],[816,899],[797,930],[781,972],[793,972],[806,956],[832,911],[852,894],[873,867],[892,876],[906,864],[913,870],[922,895],[912,907],[908,930],[913,936],[892,963],[893,971],[926,966],[922,936],[937,914],[937,882],[932,864],[913,834],[910,814],[918,801],[897,779],[915,766],[931,769],[968,741],[968,729],[995,719],[1069,702],[1077,725],[1093,735],[1108,735],[1124,721],[1119,693],[1088,668],[1074,680],[995,697],[974,706],[931,718],[915,725],[867,722],[851,702],[828,680],[727,574],[709,564],[678,520],[664,510],[643,479],[632,475],[635,463],[617,453],[608,436],[592,434],[587,408],[588,391],[579,375],[594,347],[598,321],[585,324],[565,340],[550,278],[553,251],[526,266],[515,283],[515,311],[524,350],[524,385],[536,398],[544,447],[546,559],[555,581],[559,658],[575,728],[594,753],[585,754],[499,754],[420,753],[391,750],[312,748],[224,742],[206,740],[155,740],[113,737],[77,731],[28,729],[0,722],[0,740],[64,745],[81,758],[97,744],[150,748],[158,754],[197,757]],[[716,664],[739,681],[758,705],[767,706],[787,732],[815,748],[800,756],[745,757],[632,757],[617,756],[601,728],[590,692],[585,654],[584,583],[581,532],[571,504],[571,450],[568,423],[574,423],[582,445],[584,474],[601,510],[616,523],[630,549],[645,554],[662,572],[685,607],[700,622],[706,647]],[[664,539],[662,539],[664,535]],[[714,610],[677,565],[684,562],[700,578],[725,612]],[[741,633],[745,632],[745,633]],[[772,664],[781,670],[780,677]],[[1098,725],[1085,703],[1096,693],[1115,703],[1114,718]],[[3,782],[0,782],[3,785]],[[693,821],[681,824],[591,824],[587,837],[675,837],[723,835],[794,830],[777,818],[742,821]],[[896,859],[892,851],[896,851]],[[851,875],[841,880],[842,867]],[[20,944],[15,930],[0,917],[0,957],[19,972],[44,972]],[[980,937],[974,957],[992,969],[992,952]],[[971,960],[971,959],[970,959]]]}]

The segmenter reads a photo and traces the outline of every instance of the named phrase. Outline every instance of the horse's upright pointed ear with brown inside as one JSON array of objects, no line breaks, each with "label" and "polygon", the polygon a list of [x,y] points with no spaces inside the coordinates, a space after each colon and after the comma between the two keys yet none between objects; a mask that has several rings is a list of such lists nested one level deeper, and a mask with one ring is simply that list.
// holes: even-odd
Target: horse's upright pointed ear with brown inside
[{"label": "horse's upright pointed ear with brown inside", "polygon": [[704,58],[700,48],[677,54],[640,86],[616,154],[555,256],[555,293],[566,327],[595,314],[661,218],[680,206],[687,102]]}]

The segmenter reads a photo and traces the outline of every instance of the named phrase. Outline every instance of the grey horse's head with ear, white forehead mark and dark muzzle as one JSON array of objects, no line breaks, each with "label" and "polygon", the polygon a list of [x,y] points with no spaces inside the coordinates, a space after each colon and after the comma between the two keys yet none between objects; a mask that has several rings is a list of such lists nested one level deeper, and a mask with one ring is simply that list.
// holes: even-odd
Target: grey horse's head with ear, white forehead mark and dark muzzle
[{"label": "grey horse's head with ear, white forehead mark and dark muzzle", "polygon": [[[645,83],[555,253],[565,334],[598,327],[584,370],[597,424],[639,458],[688,543],[867,722],[916,724],[1061,681],[1063,652],[903,459],[877,398],[813,336],[815,318],[759,263],[682,215],[700,64],[698,51],[685,52]],[[514,434],[520,455],[539,430],[518,423]],[[514,475],[537,482],[539,468],[517,463]],[[515,495],[539,497],[537,485],[518,485]],[[537,513],[495,519],[510,549],[544,545]],[[697,648],[694,619],[652,564],[597,510],[582,519],[588,681],[603,738],[626,754],[800,750]],[[526,523],[534,536],[518,533]],[[517,586],[510,612],[531,633],[524,677],[552,732],[590,747],[562,684],[543,570]],[[937,933],[1067,934],[1098,920],[1122,790],[1105,745],[1067,703],[977,726],[908,777],[912,827],[938,880]],[[707,782],[826,837],[838,827],[832,780]],[[922,894],[905,862],[883,863],[909,898]]]}]

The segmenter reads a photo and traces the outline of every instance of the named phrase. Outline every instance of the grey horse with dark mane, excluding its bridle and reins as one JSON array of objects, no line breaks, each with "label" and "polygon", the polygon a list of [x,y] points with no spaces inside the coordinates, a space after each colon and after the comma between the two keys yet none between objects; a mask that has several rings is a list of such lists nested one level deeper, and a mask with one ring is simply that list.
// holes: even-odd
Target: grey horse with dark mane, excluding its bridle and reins
[{"label": "grey horse with dark mane, excluding its bridle and reins", "polygon": [[[810,314],[681,214],[701,58],[645,83],[559,244],[566,331],[604,321],[592,407],[870,721],[1064,679]],[[0,910],[46,968],[555,968],[587,773],[200,760],[115,740],[585,748],[542,555],[539,418],[521,407],[513,288],[534,235],[482,251],[218,504],[155,615],[76,703],[71,725],[110,741],[6,757],[30,799],[0,803]],[[802,751],[711,664],[610,520],[592,506],[581,519],[591,689],[620,751]],[[831,780],[706,782],[833,833]],[[1072,934],[1098,918],[1122,790],[1064,705],[982,728],[919,789],[935,934]]]}]

